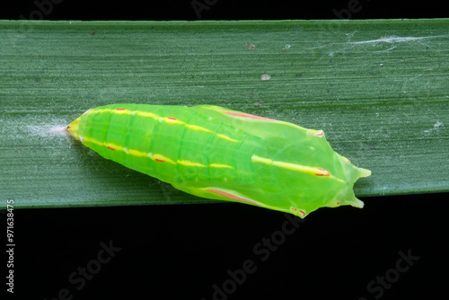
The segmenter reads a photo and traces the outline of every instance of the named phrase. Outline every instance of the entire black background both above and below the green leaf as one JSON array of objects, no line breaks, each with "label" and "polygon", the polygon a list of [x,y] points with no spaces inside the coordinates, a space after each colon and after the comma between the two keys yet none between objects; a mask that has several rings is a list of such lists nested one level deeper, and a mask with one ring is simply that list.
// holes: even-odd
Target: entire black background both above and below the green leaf
[{"label": "entire black background both above and below the green leaf", "polygon": [[[202,20],[338,19],[333,10],[348,8],[347,0],[208,3]],[[0,19],[198,20],[191,1],[64,0],[46,15],[35,12],[34,1],[0,5]],[[359,5],[351,19],[447,17],[449,12],[446,1],[361,0]],[[295,228],[288,235],[279,234],[288,220],[284,214],[232,203],[15,210],[12,298],[209,300],[214,285],[223,289],[224,283],[228,294],[216,299],[445,298],[447,198],[447,193],[367,198],[363,209],[322,208],[298,228],[288,227]],[[0,216],[4,224],[5,215]],[[276,249],[260,246],[273,234]],[[101,243],[120,250],[78,290],[79,282],[69,277],[80,267],[95,266]],[[418,260],[395,273],[399,251]],[[253,272],[233,286],[228,271],[242,269],[247,260],[253,261]],[[394,283],[382,295],[380,288],[370,293],[367,285],[385,274],[399,278],[391,278]],[[64,288],[72,298],[58,297]]]}]

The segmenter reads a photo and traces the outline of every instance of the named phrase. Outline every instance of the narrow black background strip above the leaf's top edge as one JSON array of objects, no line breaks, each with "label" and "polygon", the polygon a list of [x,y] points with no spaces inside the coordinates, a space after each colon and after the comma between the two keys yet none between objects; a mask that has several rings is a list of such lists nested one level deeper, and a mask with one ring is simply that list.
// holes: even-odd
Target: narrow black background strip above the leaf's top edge
[{"label": "narrow black background strip above the leaf's top edge", "polygon": [[[52,4],[49,7],[48,1]],[[198,0],[209,3],[200,13],[202,20],[282,20],[338,19],[340,12],[354,6],[357,13],[343,14],[350,19],[445,18],[447,1],[385,1],[385,0]],[[47,7],[40,10],[39,5]],[[88,0],[26,0],[4,1],[0,4],[0,19],[39,19],[36,10],[47,11],[46,20],[198,20],[192,0],[171,1],[88,1]]]}]

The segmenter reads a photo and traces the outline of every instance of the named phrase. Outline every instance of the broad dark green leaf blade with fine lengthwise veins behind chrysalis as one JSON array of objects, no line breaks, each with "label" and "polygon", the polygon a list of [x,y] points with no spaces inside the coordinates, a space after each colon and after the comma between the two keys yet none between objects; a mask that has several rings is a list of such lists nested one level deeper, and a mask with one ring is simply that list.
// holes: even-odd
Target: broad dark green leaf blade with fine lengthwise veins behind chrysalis
[{"label": "broad dark green leaf blade with fine lengthwise veins behind chrysalis", "polygon": [[447,28],[449,19],[0,21],[0,207],[208,201],[52,132],[114,102],[207,103],[323,129],[372,170],[358,196],[448,191]]}]

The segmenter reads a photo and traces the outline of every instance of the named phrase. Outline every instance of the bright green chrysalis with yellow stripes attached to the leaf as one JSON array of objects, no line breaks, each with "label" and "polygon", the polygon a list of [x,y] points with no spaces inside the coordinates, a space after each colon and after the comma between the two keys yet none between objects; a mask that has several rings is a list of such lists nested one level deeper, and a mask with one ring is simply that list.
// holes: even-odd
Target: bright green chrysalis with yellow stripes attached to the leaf
[{"label": "bright green chrysalis with yellow stripes attached to the leaf", "polygon": [[217,106],[111,104],[87,110],[67,130],[178,190],[300,217],[363,207],[352,188],[371,174],[334,152],[321,130]]}]

